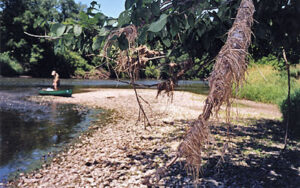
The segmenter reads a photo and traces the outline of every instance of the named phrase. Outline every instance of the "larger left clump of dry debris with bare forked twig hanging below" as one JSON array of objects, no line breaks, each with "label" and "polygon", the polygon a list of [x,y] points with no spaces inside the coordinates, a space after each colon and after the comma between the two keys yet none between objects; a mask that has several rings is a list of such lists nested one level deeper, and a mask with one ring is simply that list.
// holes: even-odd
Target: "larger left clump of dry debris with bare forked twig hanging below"
[{"label": "larger left clump of dry debris with bare forked twig hanging below", "polygon": [[160,52],[148,49],[147,46],[136,46],[135,40],[138,36],[137,28],[135,25],[129,25],[111,32],[104,45],[104,57],[107,57],[108,48],[111,47],[117,40],[121,40],[120,37],[122,37],[122,35],[125,37],[125,39],[122,39],[124,45],[122,45],[123,47],[121,48],[119,44],[120,50],[118,51],[116,60],[114,60],[116,63],[116,66],[114,66],[114,71],[117,78],[120,73],[126,73],[130,78],[129,84],[133,86],[136,100],[139,105],[139,117],[137,122],[142,120],[143,117],[144,126],[146,128],[147,125],[151,124],[147,114],[145,113],[142,102],[147,105],[149,103],[138,94],[135,81],[139,78],[140,70],[146,67],[146,63],[148,61],[163,58],[165,56]]}]

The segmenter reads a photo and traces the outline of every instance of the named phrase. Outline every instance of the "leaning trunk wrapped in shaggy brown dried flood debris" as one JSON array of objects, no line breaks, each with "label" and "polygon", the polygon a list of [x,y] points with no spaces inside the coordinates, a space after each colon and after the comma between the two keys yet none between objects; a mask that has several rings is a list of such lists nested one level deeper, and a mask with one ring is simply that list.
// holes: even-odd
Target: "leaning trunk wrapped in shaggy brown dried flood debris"
[{"label": "leaning trunk wrapped in shaggy brown dried flood debris", "polygon": [[[227,41],[215,58],[215,65],[208,79],[210,91],[205,100],[202,114],[191,125],[185,139],[178,147],[175,160],[172,161],[174,163],[179,157],[185,158],[186,167],[191,169],[196,176],[201,167],[204,149],[211,143],[207,121],[213,111],[217,114],[224,103],[227,106],[227,112],[229,111],[232,86],[238,88],[244,81],[254,11],[252,0],[241,1],[233,26],[228,31]],[[165,167],[164,170],[158,169],[155,175],[156,180],[159,181],[157,177],[161,177],[165,171]],[[146,180],[145,184],[151,184],[151,178],[147,177]]]}]

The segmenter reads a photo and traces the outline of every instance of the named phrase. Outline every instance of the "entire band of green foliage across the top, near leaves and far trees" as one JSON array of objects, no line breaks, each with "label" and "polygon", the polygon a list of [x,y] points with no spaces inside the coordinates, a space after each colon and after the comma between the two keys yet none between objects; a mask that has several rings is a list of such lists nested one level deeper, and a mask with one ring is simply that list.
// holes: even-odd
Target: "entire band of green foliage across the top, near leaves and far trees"
[{"label": "entire band of green foliage across the top, near leaves and far trees", "polygon": [[[115,73],[105,63],[109,59],[95,55],[100,54],[112,30],[134,24],[138,28],[137,45],[145,44],[166,56],[149,61],[139,74],[141,78],[165,79],[170,76],[169,62],[192,58],[193,66],[182,78],[203,79],[209,75],[212,60],[224,44],[239,3],[126,0],[125,10],[118,18],[111,18],[99,11],[99,1],[87,8],[74,0],[2,0],[0,73],[50,77],[55,69],[62,77],[84,77],[86,72],[97,72],[101,67],[100,72],[108,72],[105,75],[113,78]],[[254,4],[256,22],[250,48],[253,58],[272,54],[280,59],[284,48],[289,61],[299,63],[300,1],[254,0]],[[110,58],[118,48],[128,48],[125,37],[115,38]],[[276,62],[276,66],[281,66],[277,65],[280,61]],[[113,66],[114,62],[110,63]]]}]

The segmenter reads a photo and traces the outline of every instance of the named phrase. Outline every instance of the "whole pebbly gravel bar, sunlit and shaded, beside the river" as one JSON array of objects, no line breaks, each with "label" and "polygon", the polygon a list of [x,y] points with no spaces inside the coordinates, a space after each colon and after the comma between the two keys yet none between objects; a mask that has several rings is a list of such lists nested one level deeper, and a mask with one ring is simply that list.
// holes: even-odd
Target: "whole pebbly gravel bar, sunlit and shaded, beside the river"
[{"label": "whole pebbly gravel bar, sunlit and shaded, beside the river", "polygon": [[[113,110],[106,126],[94,122],[88,134],[58,154],[49,165],[30,174],[21,174],[9,185],[17,187],[147,187],[144,177],[175,155],[190,122],[202,111],[205,96],[188,92],[155,99],[155,90],[138,90],[151,126],[139,118],[134,91],[98,89],[74,94],[72,98],[31,97],[33,101],[82,104]],[[299,180],[299,142],[282,147],[283,128],[276,106],[237,100],[232,108],[231,139],[219,121],[212,122],[215,148],[204,157],[203,173],[196,181],[184,169],[184,159],[169,168],[161,187],[293,187]],[[229,147],[220,152],[224,143]],[[224,161],[219,164],[221,156]],[[217,165],[218,163],[218,165]],[[281,168],[283,167],[283,168]],[[286,176],[288,174],[288,176]],[[299,182],[299,181],[298,181]],[[270,184],[271,183],[271,184]],[[266,186],[268,187],[268,186]]]}]

